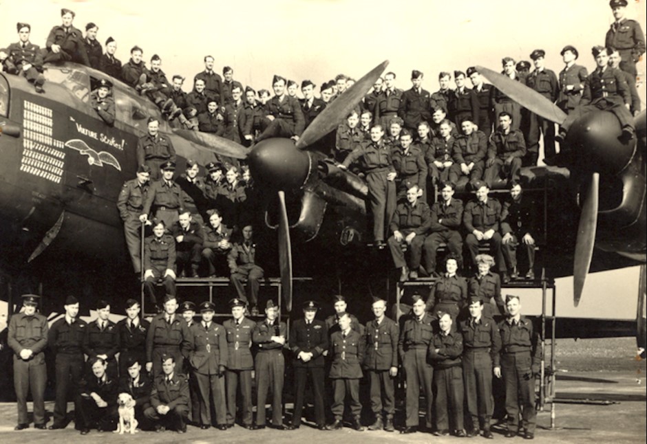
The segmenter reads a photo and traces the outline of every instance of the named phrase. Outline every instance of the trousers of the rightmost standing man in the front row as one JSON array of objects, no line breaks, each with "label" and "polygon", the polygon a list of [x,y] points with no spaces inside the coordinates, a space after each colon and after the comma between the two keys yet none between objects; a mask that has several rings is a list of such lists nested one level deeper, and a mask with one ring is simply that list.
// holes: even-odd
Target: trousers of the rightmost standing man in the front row
[{"label": "trousers of the rightmost standing man in the front row", "polygon": [[535,432],[537,412],[535,411],[535,378],[531,369],[532,358],[529,351],[504,353],[501,355],[501,372],[505,384],[505,412],[508,417],[508,430],[518,430],[519,410],[522,414],[522,427],[530,433]]}]

